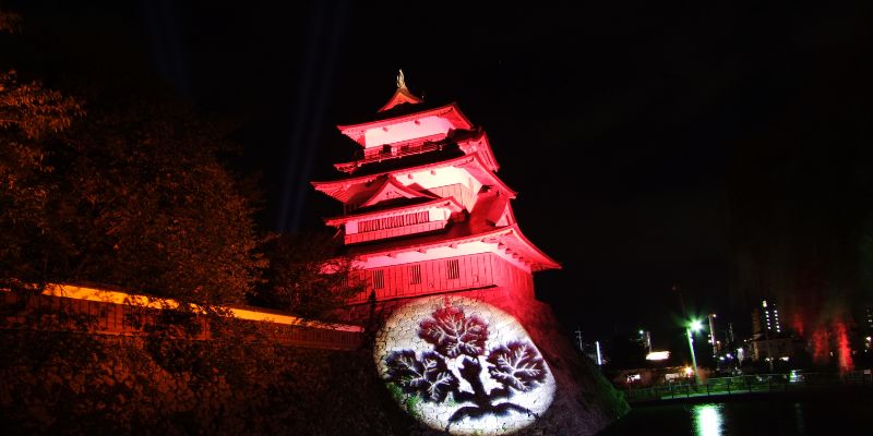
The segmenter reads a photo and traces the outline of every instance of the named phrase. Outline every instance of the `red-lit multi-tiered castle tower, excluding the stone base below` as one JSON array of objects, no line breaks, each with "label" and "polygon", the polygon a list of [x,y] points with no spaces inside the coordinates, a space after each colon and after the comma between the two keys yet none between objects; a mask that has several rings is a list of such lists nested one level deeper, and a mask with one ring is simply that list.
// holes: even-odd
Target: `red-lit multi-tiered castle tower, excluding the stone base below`
[{"label": "red-lit multi-tiered castle tower, excluding the stone base below", "polygon": [[531,272],[560,268],[522,234],[488,135],[456,104],[426,104],[400,72],[372,120],[338,129],[357,158],[312,184],[343,203],[325,221],[362,268],[367,289],[352,303],[474,289],[533,299]]}]

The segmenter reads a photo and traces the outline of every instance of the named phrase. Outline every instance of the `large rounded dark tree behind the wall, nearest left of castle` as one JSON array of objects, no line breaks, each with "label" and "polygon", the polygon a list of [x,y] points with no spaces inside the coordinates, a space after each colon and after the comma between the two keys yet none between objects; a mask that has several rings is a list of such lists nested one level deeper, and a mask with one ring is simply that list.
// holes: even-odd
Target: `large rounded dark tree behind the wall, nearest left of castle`
[{"label": "large rounded dark tree behind the wall, nearest left of castle", "polygon": [[62,203],[91,230],[76,241],[75,278],[242,302],[265,263],[254,252],[253,209],[218,159],[226,132],[174,102],[94,118],[70,141],[64,180],[77,195]]}]

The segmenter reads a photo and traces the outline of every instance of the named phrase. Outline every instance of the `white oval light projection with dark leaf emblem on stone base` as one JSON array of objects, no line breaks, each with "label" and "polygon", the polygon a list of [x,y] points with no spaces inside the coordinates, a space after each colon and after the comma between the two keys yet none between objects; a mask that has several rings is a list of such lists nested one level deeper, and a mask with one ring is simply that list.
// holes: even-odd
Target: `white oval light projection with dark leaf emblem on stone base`
[{"label": "white oval light projection with dark leaf emblem on stone base", "polygon": [[398,404],[451,434],[518,431],[554,395],[554,377],[522,325],[467,298],[423,298],[398,308],[376,336],[374,358]]}]

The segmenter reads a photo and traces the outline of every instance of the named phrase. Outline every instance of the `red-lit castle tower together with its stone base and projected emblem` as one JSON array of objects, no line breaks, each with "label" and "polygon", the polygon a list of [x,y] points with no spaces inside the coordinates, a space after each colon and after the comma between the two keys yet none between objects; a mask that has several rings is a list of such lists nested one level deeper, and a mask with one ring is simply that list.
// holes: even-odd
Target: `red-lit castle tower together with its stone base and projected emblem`
[{"label": "red-lit castle tower together with its stone base and projected emblem", "polygon": [[343,203],[325,221],[366,288],[344,315],[378,327],[373,363],[400,410],[458,435],[588,434],[620,415],[534,295],[533,272],[560,266],[518,229],[485,131],[403,73],[375,117],[338,128],[356,159],[312,184]]}]

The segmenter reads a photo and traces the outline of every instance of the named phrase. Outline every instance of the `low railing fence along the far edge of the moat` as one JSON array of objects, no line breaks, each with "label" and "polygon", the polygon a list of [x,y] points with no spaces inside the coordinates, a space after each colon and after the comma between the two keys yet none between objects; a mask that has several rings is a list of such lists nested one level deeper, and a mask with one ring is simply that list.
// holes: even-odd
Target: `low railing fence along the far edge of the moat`
[{"label": "low railing fence along the far edge of the moat", "polygon": [[870,370],[842,375],[820,373],[755,374],[734,377],[708,378],[697,383],[668,383],[624,390],[629,402],[730,396],[753,392],[790,392],[840,387],[873,388]]}]

